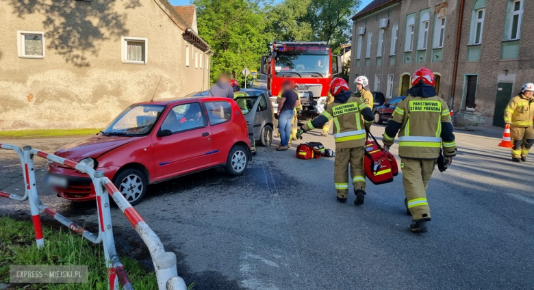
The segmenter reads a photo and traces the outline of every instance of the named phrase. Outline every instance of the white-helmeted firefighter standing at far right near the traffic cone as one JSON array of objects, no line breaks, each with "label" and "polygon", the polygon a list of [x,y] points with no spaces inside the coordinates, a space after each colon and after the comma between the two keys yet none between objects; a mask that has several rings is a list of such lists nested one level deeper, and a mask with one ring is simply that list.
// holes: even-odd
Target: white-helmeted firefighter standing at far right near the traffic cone
[{"label": "white-helmeted firefighter standing at far right near the traffic cone", "polygon": [[505,123],[510,124],[512,161],[526,161],[534,144],[534,83],[526,83],[514,96],[505,111]]}]

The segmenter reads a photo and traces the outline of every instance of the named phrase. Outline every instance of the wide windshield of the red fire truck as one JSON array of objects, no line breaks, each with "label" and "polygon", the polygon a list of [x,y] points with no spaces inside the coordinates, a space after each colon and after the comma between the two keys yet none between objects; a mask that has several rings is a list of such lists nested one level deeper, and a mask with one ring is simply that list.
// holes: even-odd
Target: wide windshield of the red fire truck
[{"label": "wide windshield of the red fire truck", "polygon": [[275,59],[277,77],[329,77],[329,55],[290,55]]}]

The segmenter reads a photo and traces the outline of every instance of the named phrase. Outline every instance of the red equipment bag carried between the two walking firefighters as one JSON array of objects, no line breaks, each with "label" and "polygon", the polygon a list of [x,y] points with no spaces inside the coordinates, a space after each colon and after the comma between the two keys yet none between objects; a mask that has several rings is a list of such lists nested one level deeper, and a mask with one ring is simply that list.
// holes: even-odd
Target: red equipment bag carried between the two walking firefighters
[{"label": "red equipment bag carried between the two walking firefighters", "polygon": [[[372,140],[368,140],[369,135]],[[369,131],[366,136],[364,170],[367,178],[375,185],[390,183],[398,174],[395,157],[389,151],[384,150]]]}]

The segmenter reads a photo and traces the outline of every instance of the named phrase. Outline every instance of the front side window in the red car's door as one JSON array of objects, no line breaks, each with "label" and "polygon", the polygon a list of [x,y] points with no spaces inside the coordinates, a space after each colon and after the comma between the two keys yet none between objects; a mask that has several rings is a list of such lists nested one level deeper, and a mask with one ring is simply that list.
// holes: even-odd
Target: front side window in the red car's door
[{"label": "front side window in the red car's door", "polygon": [[173,133],[202,127],[204,127],[204,116],[200,103],[173,107],[162,124],[162,130],[170,130]]}]

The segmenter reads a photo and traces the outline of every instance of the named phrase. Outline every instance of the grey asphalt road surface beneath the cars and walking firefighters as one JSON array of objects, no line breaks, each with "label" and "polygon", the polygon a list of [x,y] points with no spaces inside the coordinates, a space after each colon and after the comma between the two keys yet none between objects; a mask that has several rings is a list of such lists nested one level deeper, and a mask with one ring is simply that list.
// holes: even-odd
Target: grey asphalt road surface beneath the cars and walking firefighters
[{"label": "grey asphalt road surface beneath the cars and walking firefighters", "polygon": [[[3,142],[53,151],[73,139]],[[333,137],[318,131],[303,141],[334,148]],[[368,185],[365,205],[353,205],[353,195],[342,205],[333,159],[298,160],[294,148],[279,153],[275,144],[259,148],[244,176],[214,169],[152,185],[136,209],[195,289],[534,289],[534,156],[512,163],[498,142],[492,132],[457,131],[459,155],[434,173],[433,220],[422,235],[408,230],[401,174]],[[2,151],[0,190],[21,192],[21,168]],[[94,228],[92,202],[68,202],[38,186],[45,204]],[[29,220],[29,207],[0,199],[0,214]],[[148,262],[118,209],[112,217],[117,248]]]}]

